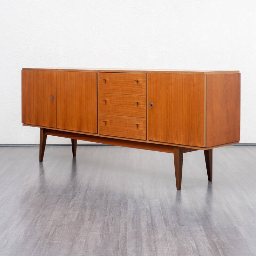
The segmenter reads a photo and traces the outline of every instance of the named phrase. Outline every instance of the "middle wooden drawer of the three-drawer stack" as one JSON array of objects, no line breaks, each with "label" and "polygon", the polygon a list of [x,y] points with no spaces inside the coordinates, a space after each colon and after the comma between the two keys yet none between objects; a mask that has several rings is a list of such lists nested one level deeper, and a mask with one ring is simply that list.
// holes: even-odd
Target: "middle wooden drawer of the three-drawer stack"
[{"label": "middle wooden drawer of the three-drawer stack", "polygon": [[98,108],[99,114],[146,117],[146,96],[99,93]]}]

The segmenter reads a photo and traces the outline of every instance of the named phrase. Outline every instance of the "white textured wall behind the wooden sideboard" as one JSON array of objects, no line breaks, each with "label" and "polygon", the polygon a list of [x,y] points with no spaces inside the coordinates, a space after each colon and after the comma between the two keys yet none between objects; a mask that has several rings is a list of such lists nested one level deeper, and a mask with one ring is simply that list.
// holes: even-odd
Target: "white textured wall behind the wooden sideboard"
[{"label": "white textured wall behind the wooden sideboard", "polygon": [[21,69],[43,67],[240,70],[241,142],[256,143],[255,17],[255,0],[1,0],[0,144],[39,143]]}]

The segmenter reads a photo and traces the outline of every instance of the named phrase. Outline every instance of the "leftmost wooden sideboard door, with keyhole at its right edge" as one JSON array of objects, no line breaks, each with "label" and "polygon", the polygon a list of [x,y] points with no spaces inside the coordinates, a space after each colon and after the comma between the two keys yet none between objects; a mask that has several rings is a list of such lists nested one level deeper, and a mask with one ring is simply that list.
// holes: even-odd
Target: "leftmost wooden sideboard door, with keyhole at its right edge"
[{"label": "leftmost wooden sideboard door, with keyhole at its right edge", "polygon": [[56,71],[22,70],[22,123],[56,128]]}]

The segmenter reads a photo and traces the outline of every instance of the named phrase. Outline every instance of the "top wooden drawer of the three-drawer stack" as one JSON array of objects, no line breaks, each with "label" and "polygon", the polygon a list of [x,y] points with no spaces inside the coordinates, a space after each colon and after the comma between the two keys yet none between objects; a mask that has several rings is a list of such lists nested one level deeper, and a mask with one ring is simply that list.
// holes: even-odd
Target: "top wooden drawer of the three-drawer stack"
[{"label": "top wooden drawer of the three-drawer stack", "polygon": [[146,95],[146,74],[143,73],[100,72],[98,84],[99,93]]}]

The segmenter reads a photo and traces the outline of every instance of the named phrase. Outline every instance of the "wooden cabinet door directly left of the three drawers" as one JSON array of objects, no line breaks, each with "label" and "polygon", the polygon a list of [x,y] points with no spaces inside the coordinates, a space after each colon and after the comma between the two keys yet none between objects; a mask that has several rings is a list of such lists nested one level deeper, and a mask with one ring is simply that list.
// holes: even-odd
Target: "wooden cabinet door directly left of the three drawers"
[{"label": "wooden cabinet door directly left of the three drawers", "polygon": [[97,72],[57,71],[57,128],[97,133]]}]

